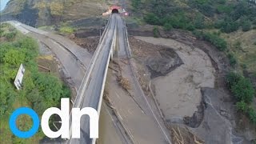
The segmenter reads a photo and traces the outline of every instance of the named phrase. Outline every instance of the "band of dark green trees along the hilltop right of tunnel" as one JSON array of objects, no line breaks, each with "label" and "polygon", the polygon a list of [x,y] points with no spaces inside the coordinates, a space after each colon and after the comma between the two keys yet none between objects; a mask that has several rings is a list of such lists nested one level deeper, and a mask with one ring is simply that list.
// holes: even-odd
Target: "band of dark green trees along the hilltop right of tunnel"
[{"label": "band of dark green trees along the hilltop right of tunnel", "polygon": [[254,6],[246,1],[191,0],[178,3],[167,0],[133,0],[132,6],[134,10],[138,7],[145,9],[145,22],[151,25],[173,26],[183,30],[214,26],[224,33],[231,33],[242,26],[242,30],[246,31],[251,29],[253,23],[255,25],[256,18]]}]

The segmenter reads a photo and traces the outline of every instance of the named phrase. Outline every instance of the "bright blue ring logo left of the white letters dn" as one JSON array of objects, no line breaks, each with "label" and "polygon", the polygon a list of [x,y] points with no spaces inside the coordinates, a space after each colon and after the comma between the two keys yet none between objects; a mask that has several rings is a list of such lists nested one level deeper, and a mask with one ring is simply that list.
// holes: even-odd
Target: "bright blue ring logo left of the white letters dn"
[{"label": "bright blue ring logo left of the white letters dn", "polygon": [[[33,120],[33,126],[29,131],[18,130],[16,126],[16,119],[18,118],[19,115],[22,115],[22,114],[28,114]],[[34,110],[27,107],[21,107],[15,110],[14,113],[10,115],[9,126],[10,126],[10,130],[18,138],[30,138],[35,133],[37,133],[39,128],[39,122],[40,120],[38,118],[38,114]]]}]

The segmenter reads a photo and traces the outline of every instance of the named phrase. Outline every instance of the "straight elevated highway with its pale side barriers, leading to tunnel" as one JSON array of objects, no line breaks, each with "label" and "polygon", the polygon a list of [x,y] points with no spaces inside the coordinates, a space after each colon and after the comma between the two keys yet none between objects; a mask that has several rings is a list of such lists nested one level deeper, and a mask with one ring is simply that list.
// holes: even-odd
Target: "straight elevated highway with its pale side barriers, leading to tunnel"
[{"label": "straight elevated highway with its pale side barriers, leading to tunnel", "polygon": [[[89,75],[86,75],[87,79],[83,82],[83,85],[79,89],[78,98],[75,103],[80,108],[83,107],[93,107],[100,112],[100,106],[102,104],[102,94],[104,90],[104,85],[106,81],[106,70],[110,61],[110,50],[112,49],[112,44],[114,41],[114,33],[116,30],[116,17],[117,14],[112,14],[110,16],[110,22],[106,27],[106,34],[103,35],[102,42],[99,44],[97,50],[94,53],[94,58],[91,60],[91,67],[89,69]],[[71,138],[71,144],[80,143],[91,143],[92,139],[89,138],[89,117],[82,116],[80,129],[80,138]]]}]

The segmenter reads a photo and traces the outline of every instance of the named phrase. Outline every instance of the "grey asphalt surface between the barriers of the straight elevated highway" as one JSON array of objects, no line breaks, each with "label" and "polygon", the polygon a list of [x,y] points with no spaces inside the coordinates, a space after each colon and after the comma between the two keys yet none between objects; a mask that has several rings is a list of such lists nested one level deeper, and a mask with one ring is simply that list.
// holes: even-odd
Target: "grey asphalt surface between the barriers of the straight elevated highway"
[{"label": "grey asphalt surface between the barriers of the straight elevated highway", "polygon": [[[83,107],[93,107],[98,109],[98,105],[101,96],[101,91],[104,89],[104,74],[108,66],[108,58],[111,50],[111,44],[114,38],[114,30],[116,28],[116,17],[118,14],[112,14],[110,17],[110,23],[106,28],[106,35],[102,38],[102,44],[98,47],[100,49],[98,57],[94,62],[93,71],[90,75],[88,85],[86,87],[85,94],[83,95],[81,109]],[[90,139],[90,126],[89,126],[89,117],[82,116],[80,121],[80,138],[71,138],[71,144],[89,144],[92,142]]]}]

